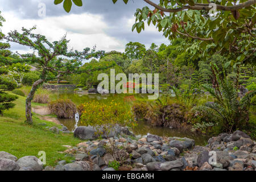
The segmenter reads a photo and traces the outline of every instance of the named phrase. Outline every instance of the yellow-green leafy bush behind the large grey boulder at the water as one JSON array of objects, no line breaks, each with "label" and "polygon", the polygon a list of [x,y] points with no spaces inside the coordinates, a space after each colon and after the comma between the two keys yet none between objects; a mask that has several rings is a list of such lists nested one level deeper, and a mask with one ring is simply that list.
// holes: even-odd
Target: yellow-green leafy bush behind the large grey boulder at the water
[{"label": "yellow-green leafy bush behind the large grey boulder at the water", "polygon": [[[123,102],[105,104],[98,101],[88,101],[82,105],[85,109],[81,112],[81,122],[83,125],[121,125],[134,127],[136,122],[133,114]],[[80,106],[80,107],[82,107]]]}]

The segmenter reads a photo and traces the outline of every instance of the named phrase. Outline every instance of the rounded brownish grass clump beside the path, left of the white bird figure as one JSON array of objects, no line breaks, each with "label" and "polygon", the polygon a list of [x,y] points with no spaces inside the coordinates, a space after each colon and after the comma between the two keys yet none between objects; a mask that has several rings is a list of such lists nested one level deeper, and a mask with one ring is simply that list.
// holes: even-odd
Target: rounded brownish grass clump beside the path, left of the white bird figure
[{"label": "rounded brownish grass clump beside the path, left of the white bird figure", "polygon": [[56,114],[58,118],[74,118],[77,113],[76,105],[66,98],[49,102],[48,109],[51,114]]}]

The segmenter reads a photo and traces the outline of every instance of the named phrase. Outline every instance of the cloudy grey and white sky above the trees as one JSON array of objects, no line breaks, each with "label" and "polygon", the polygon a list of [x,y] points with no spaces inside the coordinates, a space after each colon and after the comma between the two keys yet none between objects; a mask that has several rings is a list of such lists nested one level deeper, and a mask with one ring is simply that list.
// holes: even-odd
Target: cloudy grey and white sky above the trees
[{"label": "cloudy grey and white sky above the trees", "polygon": [[[67,32],[71,40],[69,48],[81,51],[85,47],[105,51],[124,51],[128,42],[140,42],[147,47],[152,42],[168,44],[168,40],[154,26],[146,26],[138,34],[132,32],[137,8],[146,5],[142,0],[129,1],[127,5],[118,0],[82,0],[83,7],[72,6],[68,14],[63,5],[54,5],[54,0],[0,0],[0,11],[6,19],[2,32],[20,30],[22,27],[37,27],[36,32],[46,35],[51,41],[59,40]],[[46,7],[46,16],[42,8]],[[11,51],[26,53],[29,50],[18,44],[11,44]]]}]

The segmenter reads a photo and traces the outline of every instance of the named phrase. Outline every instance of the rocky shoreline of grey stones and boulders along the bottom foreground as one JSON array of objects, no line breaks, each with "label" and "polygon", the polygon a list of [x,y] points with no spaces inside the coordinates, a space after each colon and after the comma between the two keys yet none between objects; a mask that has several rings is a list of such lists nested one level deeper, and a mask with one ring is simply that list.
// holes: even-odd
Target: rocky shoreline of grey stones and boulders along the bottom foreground
[{"label": "rocky shoreline of grey stones and boulders along the bottom foreground", "polygon": [[[195,146],[189,138],[151,134],[136,138],[127,131],[123,127],[109,139],[65,146],[63,153],[75,160],[69,164],[61,160],[55,167],[44,167],[36,156],[17,159],[2,151],[0,171],[256,171],[256,142],[242,131],[212,137],[207,146]],[[115,161],[121,165],[113,167]]]}]

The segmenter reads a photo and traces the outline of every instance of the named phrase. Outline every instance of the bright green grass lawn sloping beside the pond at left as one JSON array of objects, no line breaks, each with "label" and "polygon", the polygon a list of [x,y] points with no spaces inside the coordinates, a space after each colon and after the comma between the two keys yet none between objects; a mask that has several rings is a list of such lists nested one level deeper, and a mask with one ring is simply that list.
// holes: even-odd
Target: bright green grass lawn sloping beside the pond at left
[{"label": "bright green grass lawn sloping beside the pond at left", "polygon": [[[33,114],[34,124],[32,126],[24,123],[26,97],[18,96],[14,101],[16,106],[4,112],[0,117],[0,151],[6,151],[22,158],[27,155],[38,156],[39,151],[46,152],[46,166],[54,166],[59,160],[72,158],[65,157],[57,151],[67,148],[62,145],[76,146],[81,140],[74,138],[73,134],[53,134],[46,127],[57,126],[55,123],[43,121],[38,115]],[[36,104],[32,104],[32,106]],[[40,123],[46,123],[41,126]],[[60,126],[57,126],[60,127]]]}]

